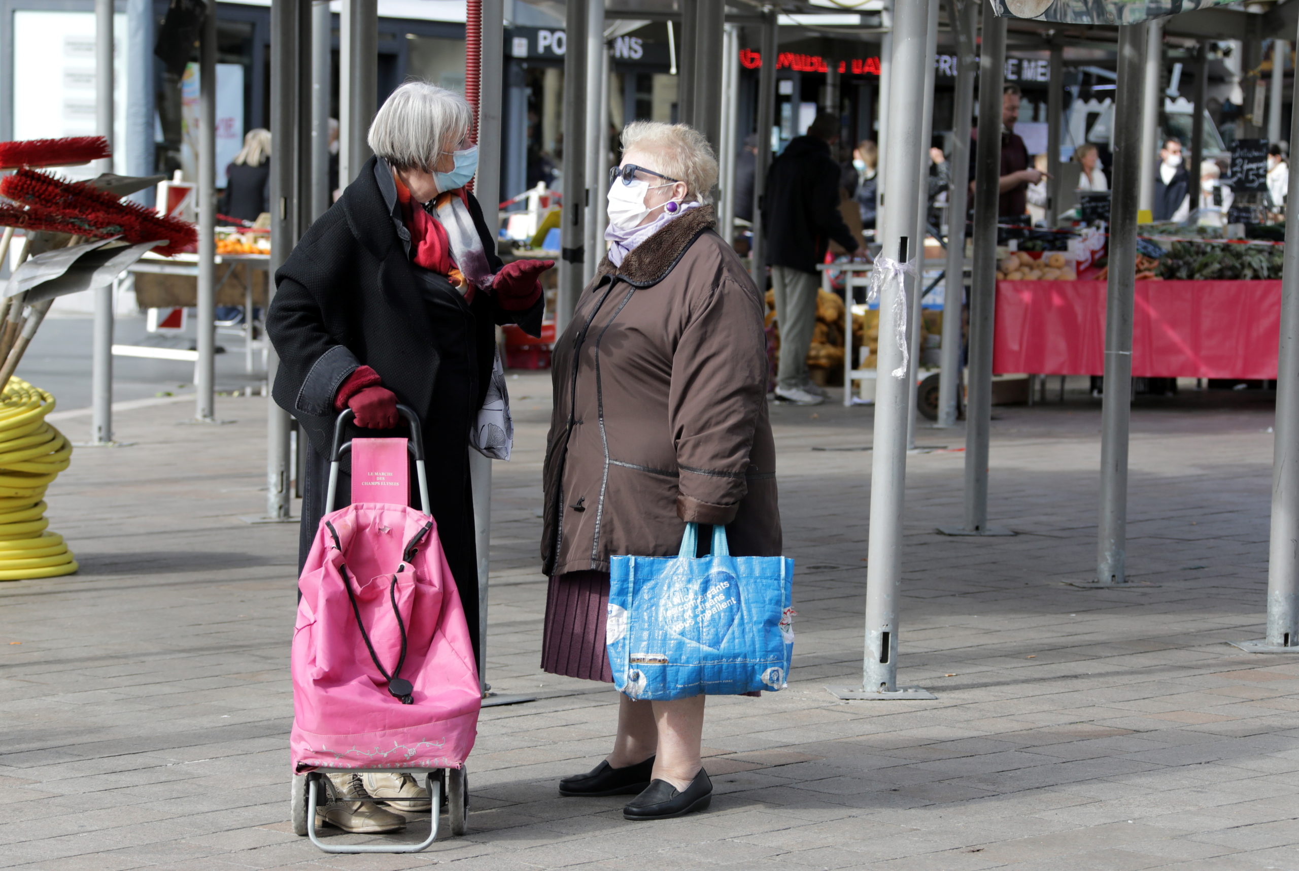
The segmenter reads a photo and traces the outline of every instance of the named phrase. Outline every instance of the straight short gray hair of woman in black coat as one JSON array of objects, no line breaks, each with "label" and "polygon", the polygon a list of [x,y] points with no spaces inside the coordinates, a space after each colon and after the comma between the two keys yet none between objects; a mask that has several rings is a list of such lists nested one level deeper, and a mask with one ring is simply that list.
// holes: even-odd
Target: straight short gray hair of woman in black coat
[{"label": "straight short gray hair of woman in black coat", "polygon": [[397,169],[431,172],[448,140],[469,131],[474,112],[465,98],[429,82],[407,82],[379,107],[366,142]]}]

